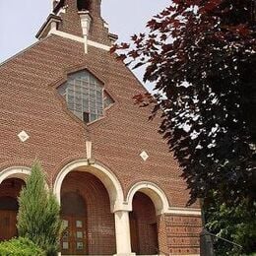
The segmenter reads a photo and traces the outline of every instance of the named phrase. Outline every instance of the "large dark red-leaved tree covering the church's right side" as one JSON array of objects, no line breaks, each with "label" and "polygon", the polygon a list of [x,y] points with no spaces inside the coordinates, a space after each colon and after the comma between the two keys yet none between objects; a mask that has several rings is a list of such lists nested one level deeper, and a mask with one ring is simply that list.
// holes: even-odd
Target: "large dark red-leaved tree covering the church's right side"
[{"label": "large dark red-leaved tree covering the church's right side", "polygon": [[149,32],[112,48],[134,68],[146,65],[144,81],[155,83],[155,96],[135,99],[155,104],[153,116],[163,110],[160,132],[183,168],[188,204],[214,193],[236,216],[222,228],[247,251],[255,244],[236,225],[231,236],[231,227],[243,226],[236,208],[247,216],[256,207],[255,13],[255,0],[173,0],[148,23]]}]

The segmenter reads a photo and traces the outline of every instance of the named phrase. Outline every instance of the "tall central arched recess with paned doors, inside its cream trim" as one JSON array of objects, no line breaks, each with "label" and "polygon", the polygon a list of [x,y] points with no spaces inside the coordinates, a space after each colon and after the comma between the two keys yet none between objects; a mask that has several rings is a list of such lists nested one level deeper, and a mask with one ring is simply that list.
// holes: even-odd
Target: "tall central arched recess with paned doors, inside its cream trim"
[{"label": "tall central arched recess with paned doors, inside its cream trim", "polygon": [[73,170],[65,176],[61,212],[67,226],[61,240],[62,255],[115,254],[114,215],[107,190],[94,174]]}]

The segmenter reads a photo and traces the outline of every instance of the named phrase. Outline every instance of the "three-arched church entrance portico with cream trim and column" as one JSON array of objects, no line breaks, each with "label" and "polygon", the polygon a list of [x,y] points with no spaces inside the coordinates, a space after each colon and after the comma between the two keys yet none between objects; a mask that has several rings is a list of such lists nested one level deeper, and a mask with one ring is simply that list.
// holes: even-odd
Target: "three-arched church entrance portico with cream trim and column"
[{"label": "three-arched church entrance portico with cream trim and column", "polygon": [[[0,193],[6,192],[9,186],[9,192],[14,194],[14,200],[8,200],[12,209],[7,209],[5,204],[9,194],[2,195],[0,200],[0,207],[6,208],[1,210],[13,211],[14,214],[9,215],[10,218],[14,216],[13,221],[9,218],[13,226],[18,211],[17,196],[25,184],[22,179],[29,174],[29,168],[9,168],[0,172],[3,180]],[[182,211],[193,214],[192,210],[180,209],[178,213],[169,208],[164,192],[150,181],[135,183],[124,197],[117,177],[97,161],[68,163],[57,175],[53,191],[61,204],[61,216],[67,227],[61,239],[62,255],[160,254],[167,251],[162,245],[166,237],[162,236],[165,227],[160,220],[170,214],[182,214]],[[16,235],[14,231],[5,239]]]}]

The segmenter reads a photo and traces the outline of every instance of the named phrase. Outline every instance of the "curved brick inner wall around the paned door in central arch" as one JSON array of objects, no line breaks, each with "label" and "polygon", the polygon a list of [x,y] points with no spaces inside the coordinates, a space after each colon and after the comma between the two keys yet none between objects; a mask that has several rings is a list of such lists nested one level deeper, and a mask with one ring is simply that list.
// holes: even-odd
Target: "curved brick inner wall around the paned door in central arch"
[{"label": "curved brick inner wall around the paned door in central arch", "polygon": [[63,181],[61,194],[67,192],[79,193],[86,202],[89,254],[115,254],[114,215],[103,184],[90,173],[74,171]]}]

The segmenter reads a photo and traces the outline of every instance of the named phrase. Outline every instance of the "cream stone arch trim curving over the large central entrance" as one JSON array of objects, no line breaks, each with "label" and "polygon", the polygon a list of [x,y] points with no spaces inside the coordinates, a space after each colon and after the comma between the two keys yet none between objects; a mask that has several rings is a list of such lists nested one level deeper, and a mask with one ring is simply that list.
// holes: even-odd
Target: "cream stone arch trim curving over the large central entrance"
[{"label": "cream stone arch trim curving over the large central entrance", "polygon": [[[85,167],[85,168],[83,168]],[[94,174],[105,186],[110,200],[111,212],[123,209],[124,195],[117,177],[103,164],[95,162],[89,164],[88,160],[75,160],[64,166],[58,173],[53,186],[53,192],[60,203],[61,185],[66,175],[72,170],[81,170]]]}]

